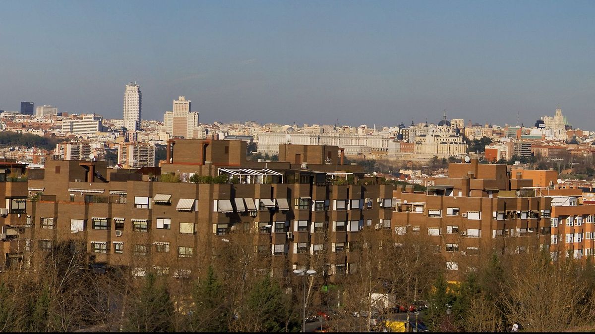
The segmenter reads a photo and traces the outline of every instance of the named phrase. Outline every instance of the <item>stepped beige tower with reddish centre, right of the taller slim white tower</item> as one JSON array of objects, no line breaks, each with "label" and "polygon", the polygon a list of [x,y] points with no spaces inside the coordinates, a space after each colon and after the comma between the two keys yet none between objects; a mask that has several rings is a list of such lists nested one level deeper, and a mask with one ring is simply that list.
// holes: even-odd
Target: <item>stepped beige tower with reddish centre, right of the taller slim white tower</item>
[{"label": "stepped beige tower with reddish centre, right of the taller slim white tower", "polygon": [[190,112],[192,101],[180,96],[174,100],[173,111],[166,111],[163,117],[165,130],[172,137],[197,138],[198,112]]}]

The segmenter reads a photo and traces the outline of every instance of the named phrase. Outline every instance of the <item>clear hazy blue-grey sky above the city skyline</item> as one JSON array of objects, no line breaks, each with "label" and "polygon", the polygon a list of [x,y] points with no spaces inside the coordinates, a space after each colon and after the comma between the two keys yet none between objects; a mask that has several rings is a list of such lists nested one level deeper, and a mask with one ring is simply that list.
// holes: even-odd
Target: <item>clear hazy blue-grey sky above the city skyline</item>
[{"label": "clear hazy blue-grey sky above the city skyline", "polygon": [[0,109],[595,130],[595,1],[2,1]]}]

